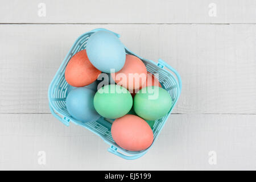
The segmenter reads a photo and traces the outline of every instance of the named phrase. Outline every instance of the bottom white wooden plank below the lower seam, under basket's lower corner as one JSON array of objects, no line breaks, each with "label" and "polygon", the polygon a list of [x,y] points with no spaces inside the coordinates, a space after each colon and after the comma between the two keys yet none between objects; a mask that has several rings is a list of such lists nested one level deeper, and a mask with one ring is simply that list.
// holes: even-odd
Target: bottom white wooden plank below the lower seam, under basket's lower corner
[{"label": "bottom white wooden plank below the lower seam, under basket's lower corner", "polygon": [[[255,120],[255,114],[174,114],[150,151],[127,161],[110,154],[100,137],[51,114],[0,114],[0,169],[255,170]],[[46,165],[39,165],[39,151]],[[210,151],[216,165],[208,162]]]}]

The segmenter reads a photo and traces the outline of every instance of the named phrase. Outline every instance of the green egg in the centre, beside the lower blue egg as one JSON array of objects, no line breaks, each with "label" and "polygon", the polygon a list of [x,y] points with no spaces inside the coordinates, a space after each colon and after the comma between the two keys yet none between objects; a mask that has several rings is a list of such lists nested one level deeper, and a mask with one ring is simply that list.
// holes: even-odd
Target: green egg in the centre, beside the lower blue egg
[{"label": "green egg in the centre, beside the lower blue egg", "polygon": [[129,112],[133,106],[133,97],[120,85],[106,85],[96,92],[93,104],[102,117],[115,119]]}]

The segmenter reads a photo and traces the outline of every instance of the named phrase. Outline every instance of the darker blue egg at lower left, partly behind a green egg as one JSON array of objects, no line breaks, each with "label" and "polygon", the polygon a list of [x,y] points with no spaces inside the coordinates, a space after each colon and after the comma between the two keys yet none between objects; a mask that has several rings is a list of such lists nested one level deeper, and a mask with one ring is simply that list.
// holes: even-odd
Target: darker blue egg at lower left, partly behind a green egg
[{"label": "darker blue egg at lower left, partly behind a green egg", "polygon": [[93,97],[95,92],[88,88],[75,88],[69,92],[66,106],[69,114],[81,122],[96,121],[100,115],[94,109]]}]

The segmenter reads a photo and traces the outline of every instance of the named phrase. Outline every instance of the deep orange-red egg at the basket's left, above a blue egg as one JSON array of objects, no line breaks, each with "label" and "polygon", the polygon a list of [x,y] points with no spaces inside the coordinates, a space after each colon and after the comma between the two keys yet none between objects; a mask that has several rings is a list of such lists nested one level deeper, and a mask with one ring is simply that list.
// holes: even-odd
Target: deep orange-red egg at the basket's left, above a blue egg
[{"label": "deep orange-red egg at the basket's left, above a blue egg", "polygon": [[65,79],[71,86],[86,86],[97,80],[100,70],[90,63],[86,50],[77,52],[68,62]]}]

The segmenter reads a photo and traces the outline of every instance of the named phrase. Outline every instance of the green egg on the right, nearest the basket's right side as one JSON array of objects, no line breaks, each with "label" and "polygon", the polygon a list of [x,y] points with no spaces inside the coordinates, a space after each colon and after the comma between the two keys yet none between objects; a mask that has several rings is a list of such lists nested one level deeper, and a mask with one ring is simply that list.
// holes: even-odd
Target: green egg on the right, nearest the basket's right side
[{"label": "green egg on the right, nearest the basket's right side", "polygon": [[147,86],[134,97],[135,113],[148,121],[155,121],[166,115],[172,106],[170,94],[159,86]]}]

